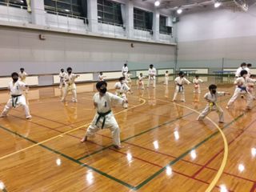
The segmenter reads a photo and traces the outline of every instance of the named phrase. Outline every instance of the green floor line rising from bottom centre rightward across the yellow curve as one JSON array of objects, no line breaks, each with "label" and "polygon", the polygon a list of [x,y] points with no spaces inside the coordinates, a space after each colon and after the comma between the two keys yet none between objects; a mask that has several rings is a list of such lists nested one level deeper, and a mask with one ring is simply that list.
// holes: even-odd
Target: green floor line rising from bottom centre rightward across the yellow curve
[{"label": "green floor line rising from bottom centre rightward across the yellow curve", "polygon": [[[227,127],[229,127],[231,124],[233,124],[234,122],[238,121],[239,118],[242,118],[247,112],[238,115],[237,118],[234,118],[234,120],[232,120],[231,122],[227,123],[226,126],[222,127],[222,130],[225,130]],[[167,166],[173,166],[176,162],[178,162],[179,160],[181,160],[182,158],[184,158],[187,154],[189,154],[191,152],[191,150],[195,150],[197,149],[199,146],[202,146],[202,144],[204,144],[205,142],[207,142],[208,140],[210,140],[210,138],[214,138],[214,136],[216,136],[217,134],[219,134],[219,131],[215,131],[214,134],[211,134],[209,137],[205,138],[204,140],[202,140],[202,142],[199,142],[197,145],[193,146],[190,150],[187,150],[185,153],[181,154],[180,156],[178,156],[178,158],[175,158],[173,161],[169,162],[166,166],[164,166],[161,170],[158,170],[156,173],[154,173],[153,175],[151,175],[149,178],[146,178],[145,181],[141,182],[140,184],[138,184],[138,186],[134,187],[134,190],[139,190],[140,188],[142,188],[142,186],[145,186],[148,182],[150,182],[152,179],[154,179],[155,177],[158,176],[158,174],[161,174],[164,170],[166,170]]]}]

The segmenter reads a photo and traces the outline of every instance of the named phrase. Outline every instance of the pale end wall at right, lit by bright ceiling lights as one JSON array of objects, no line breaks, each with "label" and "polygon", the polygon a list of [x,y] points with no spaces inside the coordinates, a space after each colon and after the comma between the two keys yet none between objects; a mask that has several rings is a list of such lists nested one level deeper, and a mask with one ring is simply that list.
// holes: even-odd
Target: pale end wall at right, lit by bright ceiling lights
[{"label": "pale end wall at right, lit by bright ceiling lights", "polygon": [[185,14],[178,22],[178,67],[256,67],[256,6],[248,12],[214,9]]}]

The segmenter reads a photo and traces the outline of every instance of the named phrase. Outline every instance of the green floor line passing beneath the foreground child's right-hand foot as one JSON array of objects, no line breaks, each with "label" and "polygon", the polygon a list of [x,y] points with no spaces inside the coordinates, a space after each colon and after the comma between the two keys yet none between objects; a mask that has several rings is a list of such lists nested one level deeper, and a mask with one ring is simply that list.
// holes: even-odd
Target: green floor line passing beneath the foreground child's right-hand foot
[{"label": "green floor line passing beneath the foreground child's right-hand foot", "polygon": [[[225,101],[228,100],[228,99],[230,99],[230,98],[223,99],[223,100],[220,101],[220,102],[225,102]],[[168,102],[168,101],[166,101],[166,102]],[[220,103],[220,102],[218,102],[218,103]],[[200,110],[203,110],[204,108],[205,108],[205,107],[203,107],[203,108],[200,109]],[[182,115],[182,116],[180,116],[180,117],[178,117],[178,118],[174,118],[174,119],[171,120],[171,121],[163,122],[161,125],[154,126],[153,128],[150,128],[149,130],[144,130],[144,131],[142,131],[142,132],[139,133],[139,134],[134,134],[134,135],[131,136],[130,138],[125,138],[125,139],[123,139],[121,142],[126,142],[127,140],[129,140],[129,139],[131,139],[131,138],[136,138],[136,137],[138,137],[139,135],[146,134],[147,132],[150,132],[151,130],[158,129],[158,128],[161,127],[161,126],[166,126],[167,124],[170,124],[170,123],[172,123],[172,122],[176,122],[176,121],[178,121],[178,120],[181,119],[181,118],[186,118],[186,117],[189,116],[190,114],[194,114],[194,113],[195,113],[195,112],[190,112],[190,113],[185,114],[185,115]],[[110,145],[110,146],[113,146],[113,145]],[[84,158],[90,157],[90,156],[93,155],[93,154],[98,154],[98,153],[101,152],[102,150],[106,150],[106,149],[110,148],[110,146],[106,146],[106,147],[102,148],[101,150],[94,151],[94,152],[91,153],[91,154],[86,154],[85,156],[82,156],[82,158],[78,158],[77,160],[80,161],[80,160],[82,160],[82,159],[84,159]]]}]

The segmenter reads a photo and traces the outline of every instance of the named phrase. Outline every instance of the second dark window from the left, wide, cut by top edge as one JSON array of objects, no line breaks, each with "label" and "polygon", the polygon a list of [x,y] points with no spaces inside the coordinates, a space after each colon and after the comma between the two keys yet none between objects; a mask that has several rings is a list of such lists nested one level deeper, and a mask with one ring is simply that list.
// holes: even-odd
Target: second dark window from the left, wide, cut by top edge
[{"label": "second dark window from the left, wide, cut by top edge", "polygon": [[45,10],[50,14],[70,14],[82,17],[82,3],[84,0],[44,0]]}]

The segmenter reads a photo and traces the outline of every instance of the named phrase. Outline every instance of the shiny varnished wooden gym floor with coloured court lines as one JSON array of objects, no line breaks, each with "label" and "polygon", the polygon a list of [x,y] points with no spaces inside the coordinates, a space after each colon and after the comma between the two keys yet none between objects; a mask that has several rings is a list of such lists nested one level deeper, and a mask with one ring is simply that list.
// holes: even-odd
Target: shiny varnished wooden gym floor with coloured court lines
[{"label": "shiny varnished wooden gym floor with coloured court lines", "polygon": [[[78,103],[60,102],[57,86],[31,89],[27,97],[32,120],[25,119],[21,108],[0,119],[2,191],[191,192],[210,185],[212,191],[256,191],[256,109],[246,111],[245,99],[239,98],[226,110],[234,86],[221,84],[218,90],[231,94],[218,101],[225,123],[214,124],[215,112],[203,122],[195,120],[194,110],[206,106],[203,95],[214,82],[209,77],[202,94],[186,86],[186,102],[176,104],[170,102],[173,82],[166,87],[159,78],[156,89],[144,93],[133,86],[129,109],[114,108],[122,150],[111,146],[109,130],[79,142],[94,117],[94,84],[78,85]],[[109,82],[109,89],[113,86]],[[0,92],[0,110],[6,93]]]}]

